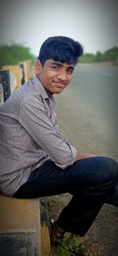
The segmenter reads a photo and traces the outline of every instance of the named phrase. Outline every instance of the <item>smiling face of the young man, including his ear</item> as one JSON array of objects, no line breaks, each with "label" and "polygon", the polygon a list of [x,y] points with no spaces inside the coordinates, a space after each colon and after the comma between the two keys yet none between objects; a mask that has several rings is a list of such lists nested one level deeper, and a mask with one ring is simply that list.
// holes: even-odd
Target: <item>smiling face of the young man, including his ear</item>
[{"label": "smiling face of the young man, including his ear", "polygon": [[45,61],[42,66],[40,61],[36,63],[36,75],[38,76],[43,87],[51,94],[61,93],[72,80],[73,64],[53,61]]}]

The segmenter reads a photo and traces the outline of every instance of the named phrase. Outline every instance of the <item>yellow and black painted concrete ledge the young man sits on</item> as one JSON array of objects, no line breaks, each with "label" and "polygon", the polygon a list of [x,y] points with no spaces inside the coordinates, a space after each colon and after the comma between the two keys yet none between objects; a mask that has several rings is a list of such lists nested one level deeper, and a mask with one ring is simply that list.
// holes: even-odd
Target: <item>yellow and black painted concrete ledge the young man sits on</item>
[{"label": "yellow and black painted concrete ledge the young man sits on", "polygon": [[0,195],[0,255],[42,256],[39,198]]}]

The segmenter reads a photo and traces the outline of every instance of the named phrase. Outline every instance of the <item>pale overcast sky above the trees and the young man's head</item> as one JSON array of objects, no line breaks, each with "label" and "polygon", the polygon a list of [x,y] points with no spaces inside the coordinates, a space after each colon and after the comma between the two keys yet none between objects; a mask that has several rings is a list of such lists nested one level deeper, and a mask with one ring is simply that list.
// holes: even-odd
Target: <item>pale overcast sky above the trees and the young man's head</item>
[{"label": "pale overcast sky above the trees and the young man's head", "polygon": [[35,55],[53,35],[103,52],[118,46],[118,0],[0,0],[0,26],[0,44],[24,43]]}]

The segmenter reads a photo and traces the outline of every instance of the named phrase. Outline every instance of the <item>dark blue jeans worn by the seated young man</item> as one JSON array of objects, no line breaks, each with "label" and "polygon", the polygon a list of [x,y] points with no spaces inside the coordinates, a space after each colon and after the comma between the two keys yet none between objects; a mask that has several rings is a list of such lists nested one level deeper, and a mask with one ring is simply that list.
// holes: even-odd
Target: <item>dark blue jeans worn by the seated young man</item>
[{"label": "dark blue jeans worn by the seated young man", "polygon": [[72,194],[58,224],[68,232],[84,236],[105,202],[118,206],[117,184],[118,165],[112,158],[84,158],[66,169],[46,161],[31,173],[28,182],[13,196],[37,198],[66,192]]}]

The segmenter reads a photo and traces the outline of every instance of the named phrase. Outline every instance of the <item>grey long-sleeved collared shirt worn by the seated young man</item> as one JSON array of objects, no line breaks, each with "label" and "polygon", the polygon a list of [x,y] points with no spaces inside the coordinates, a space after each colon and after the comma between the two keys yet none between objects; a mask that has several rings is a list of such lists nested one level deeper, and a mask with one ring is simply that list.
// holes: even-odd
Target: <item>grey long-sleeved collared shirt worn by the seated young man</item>
[{"label": "grey long-sleeved collared shirt worn by the seated young man", "polygon": [[55,99],[35,77],[13,92],[0,108],[0,191],[13,195],[31,172],[51,159],[72,165],[76,149],[61,137]]}]

